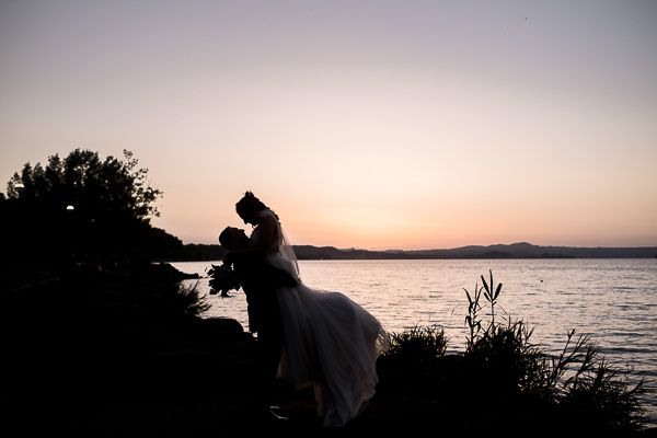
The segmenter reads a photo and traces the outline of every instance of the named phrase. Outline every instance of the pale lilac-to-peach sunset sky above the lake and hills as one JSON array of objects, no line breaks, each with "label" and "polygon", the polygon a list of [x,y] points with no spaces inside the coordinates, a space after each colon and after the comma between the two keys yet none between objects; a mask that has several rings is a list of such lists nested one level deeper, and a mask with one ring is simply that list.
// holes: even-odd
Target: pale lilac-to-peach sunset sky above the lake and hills
[{"label": "pale lilac-to-peach sunset sky above the lake and hills", "polygon": [[185,243],[657,245],[655,1],[0,1],[0,192],[128,149]]}]

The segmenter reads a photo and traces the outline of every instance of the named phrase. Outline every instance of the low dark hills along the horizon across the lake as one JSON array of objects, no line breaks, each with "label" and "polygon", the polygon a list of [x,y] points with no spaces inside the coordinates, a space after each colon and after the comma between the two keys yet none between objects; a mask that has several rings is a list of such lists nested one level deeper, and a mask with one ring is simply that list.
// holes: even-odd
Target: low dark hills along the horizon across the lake
[{"label": "low dark hills along the horizon across the lake", "polygon": [[[413,258],[655,258],[657,246],[577,247],[540,246],[527,242],[495,245],[469,245],[449,250],[368,251],[334,246],[295,245],[299,260],[413,260]],[[222,257],[219,245],[184,245],[178,260],[212,261]]]}]

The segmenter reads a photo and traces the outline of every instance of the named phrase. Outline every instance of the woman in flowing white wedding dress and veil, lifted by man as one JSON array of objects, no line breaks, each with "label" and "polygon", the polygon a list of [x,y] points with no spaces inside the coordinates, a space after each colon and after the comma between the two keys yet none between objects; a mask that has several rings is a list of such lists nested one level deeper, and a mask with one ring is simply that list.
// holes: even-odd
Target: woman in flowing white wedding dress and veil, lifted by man
[{"label": "woman in flowing white wedding dress and veil, lifted by man", "polygon": [[344,426],[374,394],[377,358],[388,348],[381,323],[341,292],[316,290],[299,278],[292,247],[278,216],[253,193],[237,203],[238,215],[255,228],[251,246],[298,279],[277,288],[284,347],[278,377],[295,388],[313,387],[318,415],[326,427]]}]

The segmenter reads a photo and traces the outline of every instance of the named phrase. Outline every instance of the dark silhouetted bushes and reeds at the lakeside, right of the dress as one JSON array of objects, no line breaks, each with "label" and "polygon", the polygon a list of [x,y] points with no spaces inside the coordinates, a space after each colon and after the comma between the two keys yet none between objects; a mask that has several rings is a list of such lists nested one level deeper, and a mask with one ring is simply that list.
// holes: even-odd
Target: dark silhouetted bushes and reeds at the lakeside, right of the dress
[{"label": "dark silhouetted bushes and reeds at the lakeside, right of the dress", "polygon": [[445,354],[437,326],[392,334],[392,348],[378,364],[378,415],[427,426],[438,420],[461,433],[525,434],[539,426],[543,433],[627,436],[641,429],[644,379],[631,384],[629,371],[601,357],[590,335],[575,338],[574,330],[558,355],[545,353],[522,320],[496,318],[502,284],[492,272],[481,279],[483,286],[464,289],[469,334],[462,354]]}]

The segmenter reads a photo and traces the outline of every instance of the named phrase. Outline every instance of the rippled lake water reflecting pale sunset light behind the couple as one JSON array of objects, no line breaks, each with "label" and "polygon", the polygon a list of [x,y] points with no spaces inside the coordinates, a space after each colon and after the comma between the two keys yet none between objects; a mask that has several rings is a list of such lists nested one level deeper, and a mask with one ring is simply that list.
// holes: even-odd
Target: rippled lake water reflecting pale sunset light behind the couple
[{"label": "rippled lake water reflecting pale sunset light behind the couple", "polygon": [[[210,263],[173,265],[205,275]],[[462,351],[465,343],[463,288],[472,292],[491,269],[503,284],[497,315],[522,319],[534,328],[533,343],[548,353],[560,351],[572,328],[576,336],[591,334],[611,364],[630,370],[631,381],[646,377],[644,403],[650,425],[657,425],[657,260],[301,261],[299,267],[306,285],[346,293],[388,331],[442,326],[452,351]],[[207,278],[191,283],[196,281],[207,293]],[[206,316],[233,318],[246,328],[244,295],[231,295],[208,296],[212,307]]]}]

